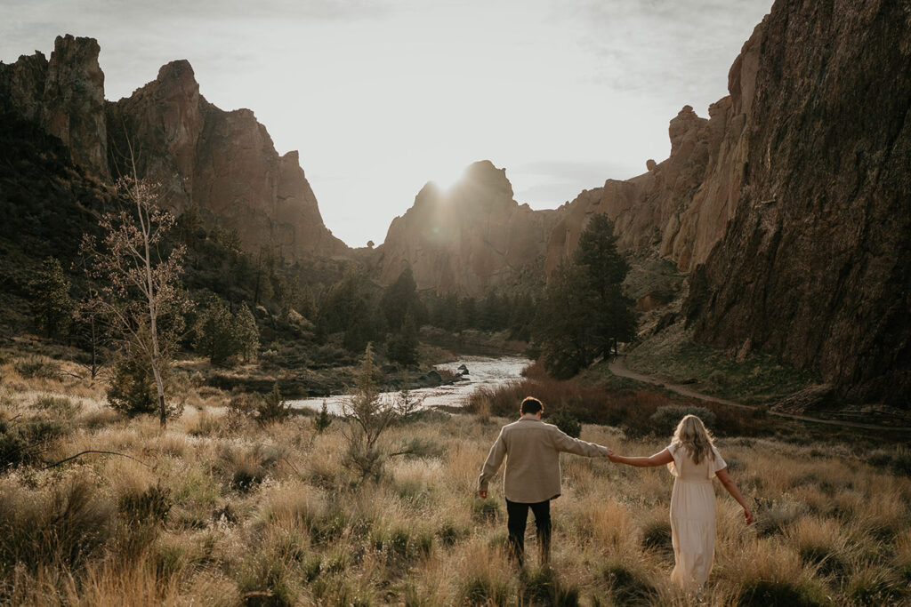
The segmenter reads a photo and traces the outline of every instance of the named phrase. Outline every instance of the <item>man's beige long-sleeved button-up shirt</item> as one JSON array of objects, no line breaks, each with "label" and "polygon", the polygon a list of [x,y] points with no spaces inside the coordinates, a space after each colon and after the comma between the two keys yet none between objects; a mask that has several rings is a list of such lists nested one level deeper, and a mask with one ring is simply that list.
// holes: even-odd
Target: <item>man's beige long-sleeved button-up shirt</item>
[{"label": "man's beige long-sleeved button-up shirt", "polygon": [[507,424],[490,448],[477,480],[477,491],[487,491],[487,483],[505,457],[503,492],[507,500],[521,503],[552,500],[560,494],[561,451],[589,458],[608,455],[606,447],[573,439],[557,426],[530,416]]}]

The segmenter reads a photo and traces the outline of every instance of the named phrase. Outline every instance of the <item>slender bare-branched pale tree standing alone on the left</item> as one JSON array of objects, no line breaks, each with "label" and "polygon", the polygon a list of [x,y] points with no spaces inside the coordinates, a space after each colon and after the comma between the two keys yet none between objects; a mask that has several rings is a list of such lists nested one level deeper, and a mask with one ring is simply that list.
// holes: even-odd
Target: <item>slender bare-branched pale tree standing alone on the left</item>
[{"label": "slender bare-branched pale tree standing alone on the left", "polygon": [[82,253],[98,282],[93,305],[104,310],[128,352],[148,361],[158,391],[159,419],[167,423],[164,371],[183,328],[179,290],[186,249],[165,237],[176,218],[161,206],[156,184],[132,175],[118,179],[128,208],[102,216],[101,238],[86,236]]}]

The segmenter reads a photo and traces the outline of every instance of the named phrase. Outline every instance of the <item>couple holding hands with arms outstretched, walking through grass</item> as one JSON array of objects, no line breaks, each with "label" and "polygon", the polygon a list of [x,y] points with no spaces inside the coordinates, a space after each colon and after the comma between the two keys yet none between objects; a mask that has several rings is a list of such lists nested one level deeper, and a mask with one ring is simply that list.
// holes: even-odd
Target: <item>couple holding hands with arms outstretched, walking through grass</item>
[{"label": "couple holding hands with arms outstretched, walking through grass", "polygon": [[709,578],[715,547],[715,492],[711,480],[722,482],[743,507],[747,524],[752,512],[726,470],[711,435],[695,415],[677,425],[670,445],[651,457],[624,457],[584,440],[573,439],[556,426],[541,421],[544,405],[532,397],[522,401],[522,417],[500,430],[477,481],[477,494],[487,497],[487,485],[503,460],[503,492],[507,499],[509,554],[521,567],[525,554],[528,509],[535,513],[541,561],[550,554],[550,501],[560,495],[562,451],[586,457],[607,457],[615,463],[637,467],[667,465],[674,476],[670,496],[670,530],[674,549],[671,580],[701,587]]}]

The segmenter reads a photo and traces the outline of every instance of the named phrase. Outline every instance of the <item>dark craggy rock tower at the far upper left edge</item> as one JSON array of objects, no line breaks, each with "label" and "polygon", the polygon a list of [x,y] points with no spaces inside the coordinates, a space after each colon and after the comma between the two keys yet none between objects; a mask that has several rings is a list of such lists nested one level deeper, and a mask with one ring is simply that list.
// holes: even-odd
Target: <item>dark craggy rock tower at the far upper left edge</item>
[{"label": "dark craggy rock tower at the far upper left edge", "polygon": [[92,38],[58,35],[48,62],[42,53],[0,65],[0,96],[6,111],[35,122],[58,137],[73,162],[107,178],[105,75]]}]

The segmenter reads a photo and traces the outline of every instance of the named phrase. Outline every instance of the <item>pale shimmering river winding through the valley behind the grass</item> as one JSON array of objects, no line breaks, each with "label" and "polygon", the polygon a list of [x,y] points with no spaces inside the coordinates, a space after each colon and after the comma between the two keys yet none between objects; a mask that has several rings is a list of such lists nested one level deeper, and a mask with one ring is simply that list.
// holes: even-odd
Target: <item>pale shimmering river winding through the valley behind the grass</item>
[{"label": "pale shimmering river winding through the valley behind the grass", "polygon": [[[531,360],[522,357],[465,356],[452,362],[435,365],[435,369],[452,371],[453,373],[456,373],[461,365],[465,365],[468,368],[468,375],[465,379],[449,386],[415,389],[411,393],[415,398],[424,399],[425,407],[438,407],[440,405],[461,407],[466,403],[468,396],[476,389],[482,387],[494,388],[508,381],[522,379],[522,369],[525,369],[531,363]],[[398,392],[384,392],[381,398],[384,400],[392,399],[396,394]],[[347,398],[347,395],[336,395],[324,399],[291,400],[289,404],[295,408],[306,407],[319,410],[322,408],[322,401],[325,400],[326,410],[335,415],[340,415],[342,404]]]}]

